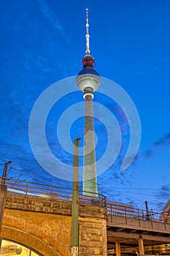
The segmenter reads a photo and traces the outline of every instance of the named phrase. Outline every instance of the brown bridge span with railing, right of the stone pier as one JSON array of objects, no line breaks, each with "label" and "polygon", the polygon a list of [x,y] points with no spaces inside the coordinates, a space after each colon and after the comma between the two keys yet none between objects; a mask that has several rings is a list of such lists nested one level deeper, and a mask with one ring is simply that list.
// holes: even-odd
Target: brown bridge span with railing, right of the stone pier
[{"label": "brown bridge span with railing, right of the stone pier", "polygon": [[150,252],[162,244],[170,244],[170,223],[166,215],[147,212],[129,206],[107,204],[107,244],[115,249],[115,243],[121,245],[121,252],[138,251],[142,240],[145,250]]}]

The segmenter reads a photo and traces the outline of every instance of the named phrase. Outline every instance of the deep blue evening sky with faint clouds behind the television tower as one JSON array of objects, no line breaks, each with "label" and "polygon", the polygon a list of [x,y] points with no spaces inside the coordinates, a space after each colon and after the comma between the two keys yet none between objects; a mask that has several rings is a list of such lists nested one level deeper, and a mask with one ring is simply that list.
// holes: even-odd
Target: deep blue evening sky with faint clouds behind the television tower
[{"label": "deep blue evening sky with faint clouds behind the television tower", "polygon": [[[28,121],[42,91],[82,69],[87,7],[90,51],[96,60],[96,70],[125,89],[136,105],[142,125],[136,159],[127,170],[121,171],[123,150],[129,142],[127,120],[115,102],[96,92],[94,101],[112,111],[123,132],[117,161],[98,177],[99,192],[109,200],[132,203],[139,208],[144,208],[147,200],[149,208],[161,211],[170,197],[168,0],[1,2],[1,164],[12,160],[9,177],[17,178],[23,173],[21,178],[28,181],[72,186],[50,176],[36,162],[28,139]],[[76,85],[73,86],[76,91]],[[54,106],[47,118],[50,148],[68,165],[72,165],[72,154],[59,145],[57,120],[63,110],[82,100],[81,92],[70,94],[58,102],[59,111]],[[68,135],[72,140],[83,137],[83,121],[79,118],[72,124]],[[97,119],[95,127],[96,157],[100,158],[106,149],[107,130]]]}]

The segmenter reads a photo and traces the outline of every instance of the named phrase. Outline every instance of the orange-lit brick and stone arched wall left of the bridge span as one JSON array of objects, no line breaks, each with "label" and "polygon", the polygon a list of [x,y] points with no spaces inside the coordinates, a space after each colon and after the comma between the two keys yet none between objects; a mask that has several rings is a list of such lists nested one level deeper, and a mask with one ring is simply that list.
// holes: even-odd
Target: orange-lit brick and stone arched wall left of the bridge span
[{"label": "orange-lit brick and stone arched wall left of the bridge span", "polygon": [[[1,237],[44,256],[69,256],[72,202],[8,195]],[[107,255],[107,211],[80,204],[80,256]]]}]

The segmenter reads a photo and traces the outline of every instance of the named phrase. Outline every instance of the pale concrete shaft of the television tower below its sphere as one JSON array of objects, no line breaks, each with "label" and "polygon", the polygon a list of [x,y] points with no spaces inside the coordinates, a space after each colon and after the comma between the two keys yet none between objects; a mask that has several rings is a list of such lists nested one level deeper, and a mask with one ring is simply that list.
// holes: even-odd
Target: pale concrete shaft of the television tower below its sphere
[{"label": "pale concrete shaft of the television tower below its sphere", "polygon": [[[85,94],[85,141],[83,159],[83,194],[96,197],[96,154],[93,127],[93,94]],[[93,194],[94,193],[94,194]]]}]

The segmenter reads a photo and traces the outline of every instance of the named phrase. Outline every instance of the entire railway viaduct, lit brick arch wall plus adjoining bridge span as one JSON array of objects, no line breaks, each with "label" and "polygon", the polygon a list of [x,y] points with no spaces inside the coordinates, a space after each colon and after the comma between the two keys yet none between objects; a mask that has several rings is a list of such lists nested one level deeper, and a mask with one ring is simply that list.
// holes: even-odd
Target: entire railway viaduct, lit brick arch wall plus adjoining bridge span
[{"label": "entire railway viaduct, lit brick arch wall plus adjoining bridge span", "polygon": [[[53,197],[49,192],[43,192],[42,196],[42,190],[37,195],[38,190],[36,187],[36,192],[35,189],[28,192],[25,188],[23,195],[23,192],[16,193],[18,187],[9,188],[1,238],[31,248],[37,255],[69,256],[72,197],[67,195],[69,200],[66,200],[54,191]],[[137,251],[144,255],[145,247],[170,243],[169,223],[110,212],[101,197],[98,201],[82,199],[79,205],[81,256],[120,256]]]}]

